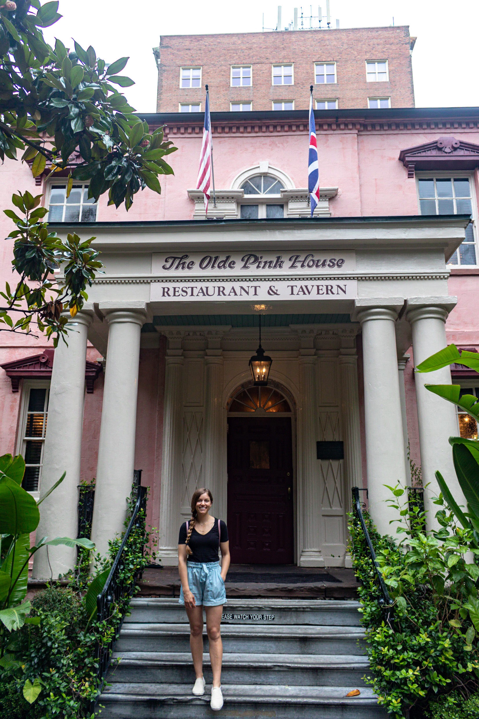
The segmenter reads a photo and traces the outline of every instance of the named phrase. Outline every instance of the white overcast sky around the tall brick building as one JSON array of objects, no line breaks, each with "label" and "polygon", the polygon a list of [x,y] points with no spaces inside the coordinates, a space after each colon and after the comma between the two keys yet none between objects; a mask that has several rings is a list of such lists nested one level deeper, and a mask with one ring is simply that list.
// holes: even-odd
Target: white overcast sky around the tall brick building
[{"label": "white overcast sky around the tall brick building", "polygon": [[[161,35],[261,32],[263,13],[265,26],[276,27],[279,2],[94,0],[83,12],[77,0],[60,0],[63,17],[45,30],[45,36],[50,43],[60,37],[67,46],[74,37],[85,48],[93,45],[107,62],[129,55],[122,74],[129,75],[136,85],[124,92],[138,111],[154,112],[157,68],[152,47],[159,45]],[[320,4],[326,14],[326,0]],[[332,27],[336,18],[340,27],[390,25],[393,17],[396,25],[409,24],[411,35],[417,36],[412,53],[417,107],[479,106],[474,50],[479,26],[477,0],[331,0],[330,4]],[[300,7],[299,2],[282,4],[283,27],[292,21],[294,6]],[[310,4],[302,10],[309,16]],[[317,15],[317,5],[312,6],[312,14]],[[211,109],[214,111],[213,104]]]}]

